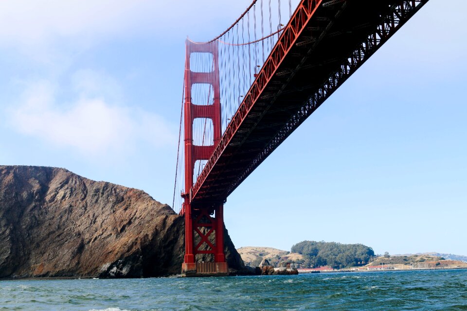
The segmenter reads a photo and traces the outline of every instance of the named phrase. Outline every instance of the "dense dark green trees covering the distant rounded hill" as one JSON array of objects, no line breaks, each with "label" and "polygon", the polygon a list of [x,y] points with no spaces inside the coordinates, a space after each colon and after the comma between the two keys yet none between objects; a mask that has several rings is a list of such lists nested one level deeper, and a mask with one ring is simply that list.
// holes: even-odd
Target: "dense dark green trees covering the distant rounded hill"
[{"label": "dense dark green trees covering the distant rounded hill", "polygon": [[363,244],[341,244],[336,242],[303,241],[292,246],[292,253],[304,256],[305,268],[330,266],[341,269],[367,264],[375,252]]}]

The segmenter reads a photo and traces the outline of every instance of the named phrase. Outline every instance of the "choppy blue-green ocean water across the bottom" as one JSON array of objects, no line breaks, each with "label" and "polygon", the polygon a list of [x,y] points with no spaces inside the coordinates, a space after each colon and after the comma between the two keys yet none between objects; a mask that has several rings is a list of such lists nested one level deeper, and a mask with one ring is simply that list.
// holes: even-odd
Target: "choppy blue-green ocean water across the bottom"
[{"label": "choppy blue-green ocean water across the bottom", "polygon": [[0,281],[0,310],[467,310],[467,270]]}]

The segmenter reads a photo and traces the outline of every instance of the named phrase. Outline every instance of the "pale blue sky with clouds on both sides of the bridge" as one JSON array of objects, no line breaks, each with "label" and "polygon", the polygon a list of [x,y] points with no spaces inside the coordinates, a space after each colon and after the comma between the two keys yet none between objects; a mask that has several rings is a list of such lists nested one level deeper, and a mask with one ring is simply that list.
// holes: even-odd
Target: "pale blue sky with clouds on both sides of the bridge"
[{"label": "pale blue sky with clouds on both sides of the bridge", "polygon": [[[0,2],[0,164],[171,205],[184,42],[250,0]],[[236,247],[467,255],[467,3],[431,0],[228,198]]]}]

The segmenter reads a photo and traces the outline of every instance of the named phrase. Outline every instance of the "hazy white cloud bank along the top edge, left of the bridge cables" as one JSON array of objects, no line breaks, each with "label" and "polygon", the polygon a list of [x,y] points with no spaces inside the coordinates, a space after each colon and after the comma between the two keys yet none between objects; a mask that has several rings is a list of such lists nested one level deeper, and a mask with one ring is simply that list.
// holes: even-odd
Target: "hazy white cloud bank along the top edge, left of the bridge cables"
[{"label": "hazy white cloud bank along the top edge, left of the bridge cables", "polygon": [[1,0],[0,51],[11,50],[11,57],[23,64],[32,61],[62,74],[77,56],[115,40],[145,37],[165,46],[174,38],[182,45],[186,35],[210,39],[230,26],[249,2]]}]

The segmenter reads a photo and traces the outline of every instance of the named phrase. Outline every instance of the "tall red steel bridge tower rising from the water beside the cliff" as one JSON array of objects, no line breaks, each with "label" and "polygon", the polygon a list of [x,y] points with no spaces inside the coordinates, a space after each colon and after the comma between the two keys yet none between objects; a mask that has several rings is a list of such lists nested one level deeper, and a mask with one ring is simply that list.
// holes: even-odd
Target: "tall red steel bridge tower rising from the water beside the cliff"
[{"label": "tall red steel bridge tower rising from the water beside the cliff", "polygon": [[[190,60],[194,56],[194,53],[203,53],[203,55],[208,56],[203,59],[210,60],[210,71],[197,72],[192,70]],[[185,216],[185,257],[182,264],[182,275],[184,276],[219,276],[228,274],[227,262],[224,255],[223,203],[195,206],[192,204],[191,195],[196,161],[208,160],[221,138],[219,83],[217,41],[195,43],[187,39],[184,105],[185,192],[182,194],[184,203],[181,210],[181,213]],[[210,85],[209,89],[212,89],[213,92],[212,103],[192,102],[192,90],[196,84]],[[211,96],[208,96],[208,99],[209,97]],[[212,145],[199,146],[194,144],[193,124],[197,118],[212,121],[214,130]]]}]

